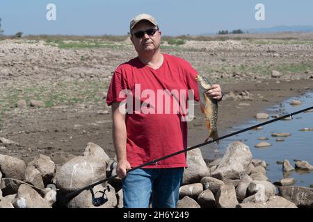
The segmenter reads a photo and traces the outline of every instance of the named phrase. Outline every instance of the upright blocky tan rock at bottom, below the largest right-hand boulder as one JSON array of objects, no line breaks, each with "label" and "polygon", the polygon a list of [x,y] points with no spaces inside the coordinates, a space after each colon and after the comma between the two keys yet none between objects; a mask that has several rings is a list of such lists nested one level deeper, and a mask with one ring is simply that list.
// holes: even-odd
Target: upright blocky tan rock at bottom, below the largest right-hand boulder
[{"label": "upright blocky tan rock at bottom, below the largest right-hand boulder", "polygon": [[236,191],[232,185],[223,185],[216,193],[216,206],[218,208],[234,208],[238,204]]}]

